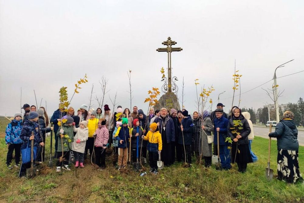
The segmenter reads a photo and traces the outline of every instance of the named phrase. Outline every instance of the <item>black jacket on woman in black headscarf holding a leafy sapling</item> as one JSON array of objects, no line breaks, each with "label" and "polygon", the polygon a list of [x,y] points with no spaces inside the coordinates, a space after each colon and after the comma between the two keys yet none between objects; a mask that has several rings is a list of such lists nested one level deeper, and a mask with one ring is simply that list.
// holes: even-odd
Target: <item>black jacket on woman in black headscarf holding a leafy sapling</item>
[{"label": "black jacket on woman in black headscarf holding a leafy sapling", "polygon": [[240,120],[241,123],[243,124],[242,126],[239,126],[241,127],[242,129],[238,129],[237,132],[240,133],[240,135],[242,136],[242,138],[239,139],[238,142],[233,142],[232,141],[232,144],[233,145],[236,145],[237,143],[239,145],[246,145],[246,144],[249,144],[249,140],[248,140],[248,135],[250,134],[251,132],[251,129],[250,129],[250,126],[248,124],[248,121],[247,119],[242,115],[240,114],[239,117],[234,117],[232,116],[228,122],[228,127],[227,127],[227,134],[228,136],[233,140],[234,138],[237,137],[237,134],[236,133],[232,133],[232,131],[234,129],[230,129],[230,128],[234,128],[234,124],[233,124],[233,121],[234,120]]}]

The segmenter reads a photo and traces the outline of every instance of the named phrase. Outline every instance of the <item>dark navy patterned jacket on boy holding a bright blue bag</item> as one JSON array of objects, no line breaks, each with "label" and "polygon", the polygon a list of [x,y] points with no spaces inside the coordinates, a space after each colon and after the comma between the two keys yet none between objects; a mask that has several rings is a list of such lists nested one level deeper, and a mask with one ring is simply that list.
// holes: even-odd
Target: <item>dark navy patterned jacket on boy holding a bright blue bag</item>
[{"label": "dark navy patterned jacket on boy holding a bright blue bag", "polygon": [[[23,144],[21,145],[21,149],[25,149],[27,147],[27,142],[29,142],[29,137],[32,135],[32,132],[34,132],[34,146],[39,147],[39,143],[42,141],[42,136],[39,132],[39,123],[26,120],[22,129],[20,138],[23,140]],[[29,146],[31,146],[31,143],[29,143]]]}]

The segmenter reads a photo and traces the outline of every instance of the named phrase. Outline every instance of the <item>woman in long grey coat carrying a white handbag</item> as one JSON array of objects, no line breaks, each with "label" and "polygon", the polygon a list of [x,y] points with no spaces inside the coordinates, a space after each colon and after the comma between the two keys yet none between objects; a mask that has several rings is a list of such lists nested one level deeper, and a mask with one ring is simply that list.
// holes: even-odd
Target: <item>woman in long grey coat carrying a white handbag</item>
[{"label": "woman in long grey coat carrying a white handbag", "polygon": [[205,159],[205,167],[211,166],[211,157],[212,157],[212,144],[208,144],[208,136],[211,136],[213,131],[213,124],[210,118],[210,113],[207,110],[203,112],[203,121],[202,121],[202,156]]}]

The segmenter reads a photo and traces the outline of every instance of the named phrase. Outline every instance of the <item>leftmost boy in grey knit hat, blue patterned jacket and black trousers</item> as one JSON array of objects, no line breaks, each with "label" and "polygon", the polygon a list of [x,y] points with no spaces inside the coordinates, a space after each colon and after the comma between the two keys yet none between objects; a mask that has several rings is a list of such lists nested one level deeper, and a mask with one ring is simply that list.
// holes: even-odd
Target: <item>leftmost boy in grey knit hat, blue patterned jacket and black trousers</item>
[{"label": "leftmost boy in grey knit hat, blue patterned jacket and black trousers", "polygon": [[13,152],[15,150],[15,161],[16,167],[20,167],[20,148],[22,145],[22,140],[20,139],[21,128],[23,126],[23,122],[21,120],[22,114],[20,112],[16,112],[14,115],[14,120],[10,122],[5,130],[5,144],[8,146],[9,150],[6,156],[6,164],[8,169],[12,169],[13,166],[12,158]]}]

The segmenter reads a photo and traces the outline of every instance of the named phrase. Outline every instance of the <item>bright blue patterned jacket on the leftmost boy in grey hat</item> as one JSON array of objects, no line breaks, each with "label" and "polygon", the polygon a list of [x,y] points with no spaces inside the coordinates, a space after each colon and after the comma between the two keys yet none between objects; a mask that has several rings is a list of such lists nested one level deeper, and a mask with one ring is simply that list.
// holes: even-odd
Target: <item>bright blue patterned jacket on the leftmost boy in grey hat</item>
[{"label": "bright blue patterned jacket on the leftmost boy in grey hat", "polygon": [[21,144],[23,143],[20,139],[21,128],[23,126],[22,120],[13,120],[10,122],[5,130],[5,144]]}]

